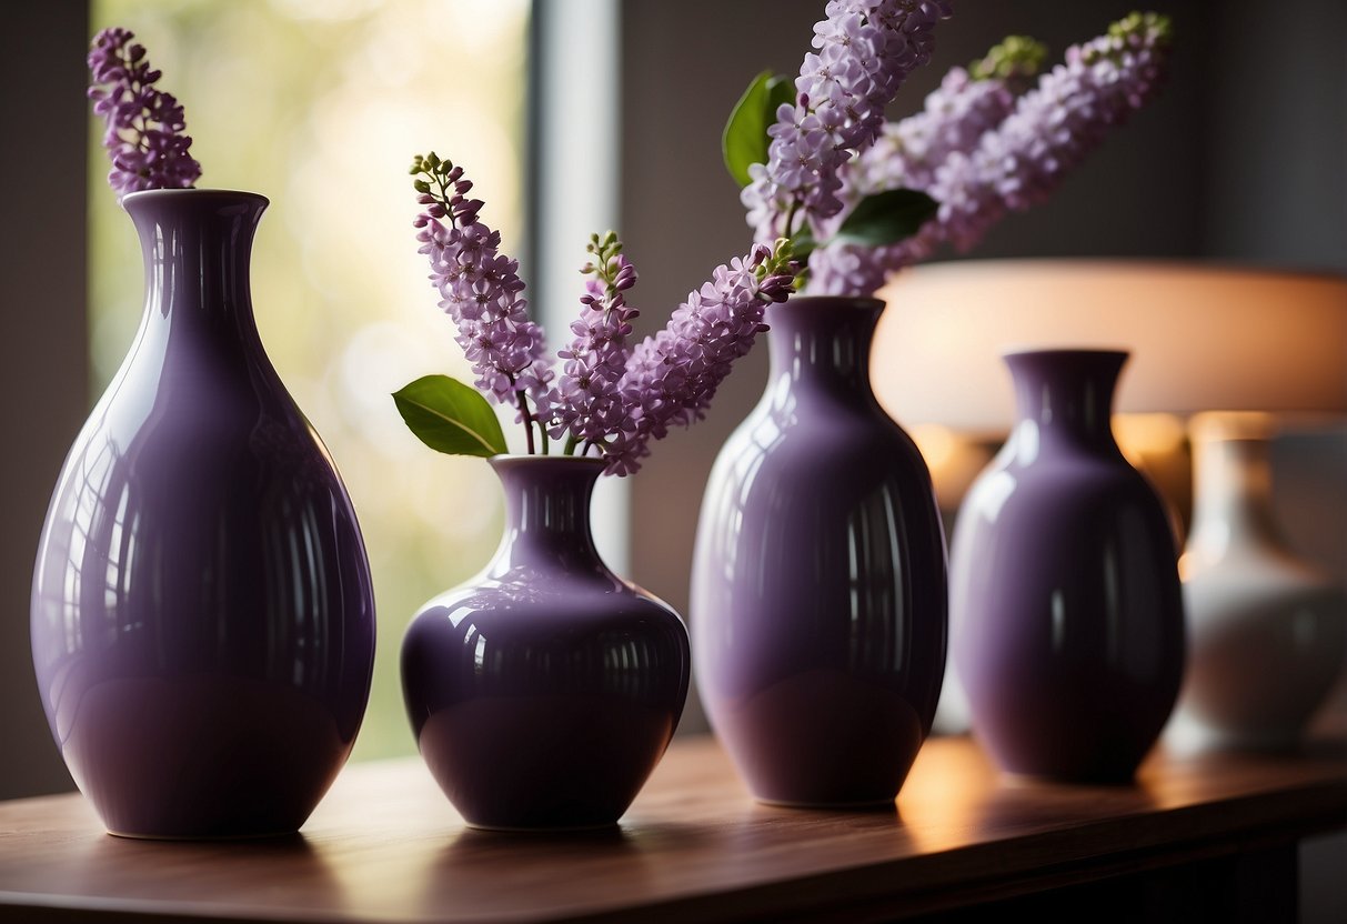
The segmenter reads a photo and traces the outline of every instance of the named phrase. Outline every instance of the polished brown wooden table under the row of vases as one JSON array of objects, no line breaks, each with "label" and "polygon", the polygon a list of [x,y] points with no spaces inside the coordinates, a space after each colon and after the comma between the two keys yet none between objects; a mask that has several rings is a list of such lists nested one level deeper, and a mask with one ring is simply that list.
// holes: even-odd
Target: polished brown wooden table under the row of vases
[{"label": "polished brown wooden table under the row of vases", "polygon": [[998,776],[932,738],[894,811],[753,803],[676,741],[620,828],[465,828],[419,760],[354,764],[294,838],[144,842],[84,797],[0,803],[0,917],[54,920],[1294,920],[1296,843],[1347,827],[1347,748],[1154,753],[1133,787]]}]

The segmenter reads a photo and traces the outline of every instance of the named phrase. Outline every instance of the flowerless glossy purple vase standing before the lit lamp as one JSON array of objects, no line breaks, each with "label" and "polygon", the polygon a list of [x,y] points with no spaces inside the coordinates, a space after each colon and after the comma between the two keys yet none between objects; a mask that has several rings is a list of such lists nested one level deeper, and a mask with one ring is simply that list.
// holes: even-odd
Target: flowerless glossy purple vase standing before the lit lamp
[{"label": "flowerless glossy purple vase standing before the lit lamp", "polygon": [[1126,357],[1008,354],[1018,420],[955,521],[952,660],[1009,773],[1129,781],[1179,694],[1175,533],[1110,426]]}]

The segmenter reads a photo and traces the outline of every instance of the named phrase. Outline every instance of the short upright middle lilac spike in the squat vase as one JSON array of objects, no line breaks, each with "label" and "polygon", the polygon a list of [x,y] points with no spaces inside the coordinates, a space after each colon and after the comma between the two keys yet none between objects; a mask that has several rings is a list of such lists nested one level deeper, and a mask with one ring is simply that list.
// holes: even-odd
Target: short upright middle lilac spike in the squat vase
[{"label": "short upright middle lilac spike in the squat vase", "polygon": [[585,306],[581,317],[571,323],[575,339],[558,353],[564,365],[551,435],[568,434],[585,450],[603,446],[630,419],[620,384],[630,353],[626,338],[638,315],[624,295],[636,284],[636,268],[616,252],[620,248],[612,232],[603,240],[594,236],[590,251],[598,256],[598,264],[586,264],[583,271],[593,277],[586,280],[581,296]]}]

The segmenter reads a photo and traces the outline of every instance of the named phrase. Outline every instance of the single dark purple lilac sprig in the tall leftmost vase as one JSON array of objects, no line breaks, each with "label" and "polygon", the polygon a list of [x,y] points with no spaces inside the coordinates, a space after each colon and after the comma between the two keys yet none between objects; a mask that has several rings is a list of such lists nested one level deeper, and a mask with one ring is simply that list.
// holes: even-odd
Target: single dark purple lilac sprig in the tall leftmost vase
[{"label": "single dark purple lilac sprig in the tall leftmost vase", "polygon": [[182,105],[155,89],[162,74],[150,69],[144,46],[131,44],[133,38],[128,30],[105,28],[89,51],[89,98],[106,123],[108,183],[119,201],[140,190],[190,189],[201,176],[201,164],[189,154],[191,137],[183,135]]}]

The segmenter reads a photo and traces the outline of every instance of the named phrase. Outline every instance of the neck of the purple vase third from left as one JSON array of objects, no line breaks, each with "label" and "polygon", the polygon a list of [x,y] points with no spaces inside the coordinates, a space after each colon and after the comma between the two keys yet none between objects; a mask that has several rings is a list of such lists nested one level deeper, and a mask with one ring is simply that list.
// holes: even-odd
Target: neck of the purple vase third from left
[{"label": "neck of the purple vase third from left", "polygon": [[880,299],[795,296],[768,310],[770,388],[869,397],[870,343]]}]

